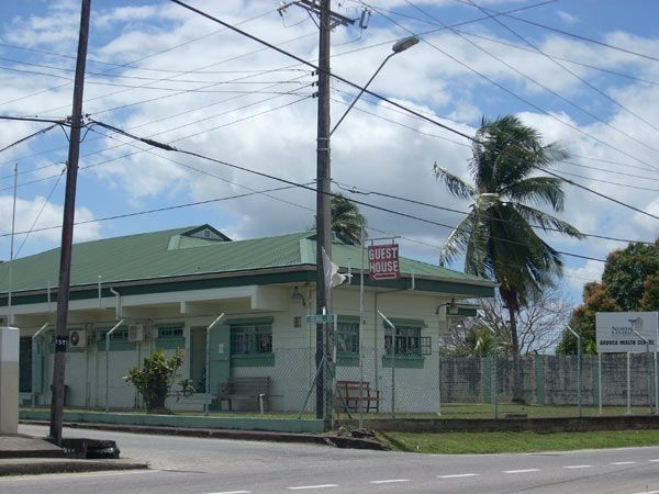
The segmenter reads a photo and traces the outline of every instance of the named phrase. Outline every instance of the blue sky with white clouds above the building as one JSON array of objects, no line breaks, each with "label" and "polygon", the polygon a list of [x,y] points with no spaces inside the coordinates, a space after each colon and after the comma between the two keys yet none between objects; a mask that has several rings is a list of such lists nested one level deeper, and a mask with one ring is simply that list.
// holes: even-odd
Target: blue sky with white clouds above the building
[{"label": "blue sky with white clouds above the building", "polygon": [[[294,5],[279,13],[280,3],[270,0],[193,3],[315,60],[317,30]],[[371,16],[366,30],[333,32],[332,69],[364,83],[395,40],[421,34],[422,43],[388,63],[373,81],[376,92],[469,135],[481,115],[517,114],[547,142],[560,141],[572,153],[570,162],[555,171],[659,215],[659,61],[651,59],[659,53],[657,3],[478,3],[494,11],[524,9],[513,15],[601,44],[507,16],[499,18],[501,24],[482,19],[482,11],[467,0],[342,1],[333,7],[345,15],[358,16],[368,8]],[[2,2],[0,114],[70,113],[79,8],[79,1]],[[439,30],[467,21],[473,22],[458,31]],[[310,70],[178,5],[92,1],[87,72],[85,112],[91,119],[287,180],[310,182],[315,177],[315,78]],[[333,82],[334,121],[354,93]],[[43,127],[0,122],[0,148]],[[0,259],[10,252],[14,164],[20,172],[16,231],[30,231],[33,224],[37,229],[26,240],[16,236],[16,250],[25,240],[19,256],[58,245],[57,229],[38,229],[62,221],[64,179],[58,177],[66,148],[65,134],[54,128],[0,153]],[[334,134],[332,148],[335,191],[375,191],[462,211],[468,206],[432,173],[438,162],[468,178],[468,142],[371,97],[357,103]],[[305,229],[314,222],[311,192],[255,193],[281,184],[155,150],[101,127],[87,133],[80,167],[76,214],[86,223],[77,226],[77,240],[200,223],[232,238],[250,238]],[[567,206],[560,217],[585,233],[646,242],[659,236],[659,221],[652,217],[571,186],[565,190]],[[231,199],[245,193],[252,194]],[[461,217],[373,194],[359,199],[448,225]],[[99,221],[208,200],[219,201]],[[371,236],[400,235],[402,255],[437,261],[448,228],[362,212]],[[546,237],[560,250],[596,259],[625,245]],[[581,285],[599,279],[602,263],[574,257],[565,261],[563,288],[578,301]]]}]

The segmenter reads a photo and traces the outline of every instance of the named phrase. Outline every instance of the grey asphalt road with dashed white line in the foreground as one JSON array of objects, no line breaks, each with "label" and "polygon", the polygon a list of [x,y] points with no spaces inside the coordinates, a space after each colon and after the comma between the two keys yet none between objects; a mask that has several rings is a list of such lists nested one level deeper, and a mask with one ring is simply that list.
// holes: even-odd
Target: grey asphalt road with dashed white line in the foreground
[{"label": "grey asphalt road with dashed white line in the foreground", "polygon": [[148,460],[153,470],[0,479],[0,492],[659,494],[659,447],[431,456],[85,429],[65,436],[114,439],[123,457]]}]

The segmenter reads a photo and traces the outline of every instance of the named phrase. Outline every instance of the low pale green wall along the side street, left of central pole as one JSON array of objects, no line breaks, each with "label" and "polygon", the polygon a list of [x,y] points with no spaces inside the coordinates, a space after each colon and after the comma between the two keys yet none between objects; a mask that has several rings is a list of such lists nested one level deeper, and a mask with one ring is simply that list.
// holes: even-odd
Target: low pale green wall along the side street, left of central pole
[{"label": "low pale green wall along the side street, left of central pole", "polygon": [[[49,420],[49,411],[22,409],[22,419]],[[190,427],[209,429],[270,430],[276,433],[322,433],[323,420],[252,417],[193,417],[185,415],[146,415],[98,412],[65,412],[64,422],[137,426]]]}]

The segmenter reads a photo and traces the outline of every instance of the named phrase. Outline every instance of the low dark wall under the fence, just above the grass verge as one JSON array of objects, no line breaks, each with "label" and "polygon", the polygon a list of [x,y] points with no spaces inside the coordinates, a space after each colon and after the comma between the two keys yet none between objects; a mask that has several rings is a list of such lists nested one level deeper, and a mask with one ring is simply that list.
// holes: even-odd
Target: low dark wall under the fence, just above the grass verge
[{"label": "low dark wall under the fence, just above the grass verge", "polygon": [[407,418],[367,419],[364,427],[372,430],[399,433],[576,433],[585,430],[659,429],[659,417],[624,415],[617,417],[570,417],[570,418]]}]

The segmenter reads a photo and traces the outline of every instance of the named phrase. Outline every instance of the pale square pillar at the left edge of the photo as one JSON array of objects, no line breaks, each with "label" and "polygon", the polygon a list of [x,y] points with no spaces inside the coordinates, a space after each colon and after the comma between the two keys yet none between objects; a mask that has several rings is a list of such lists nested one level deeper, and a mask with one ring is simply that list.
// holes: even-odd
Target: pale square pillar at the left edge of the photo
[{"label": "pale square pillar at the left edge of the photo", "polygon": [[19,433],[19,329],[0,327],[0,434]]}]

